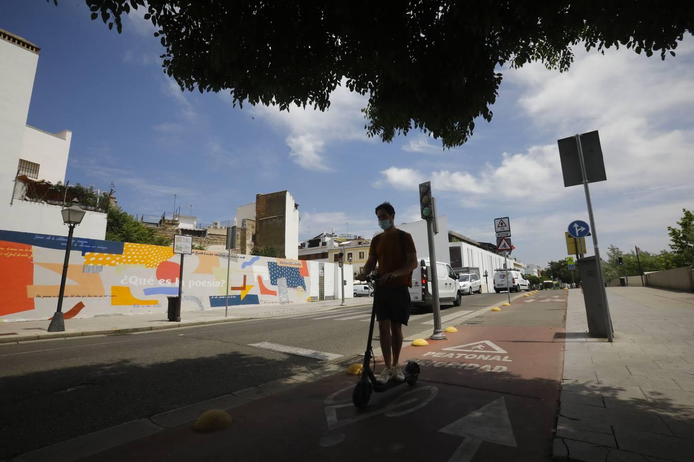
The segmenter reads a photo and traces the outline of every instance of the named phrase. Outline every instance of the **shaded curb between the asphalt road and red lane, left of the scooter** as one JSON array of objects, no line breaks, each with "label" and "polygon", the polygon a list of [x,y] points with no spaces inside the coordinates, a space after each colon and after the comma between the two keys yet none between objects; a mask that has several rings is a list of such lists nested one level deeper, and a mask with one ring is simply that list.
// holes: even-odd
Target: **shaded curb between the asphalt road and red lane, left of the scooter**
[{"label": "shaded curb between the asphalt road and red lane, left of the scooter", "polygon": [[326,364],[315,369],[307,368],[304,373],[290,375],[272,382],[260,384],[228,395],[196,402],[192,405],[179,407],[162,412],[149,418],[139,418],[130,422],[98,430],[67,441],[15,456],[8,462],[72,462],[83,459],[113,447],[130,443],[146,436],[162,432],[165,429],[178,427],[185,423],[194,422],[203,412],[210,409],[233,409],[248,402],[271,396],[297,385],[315,382],[323,377],[342,371],[344,368],[335,364]]}]

